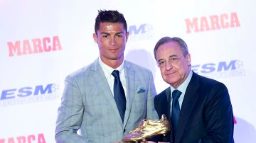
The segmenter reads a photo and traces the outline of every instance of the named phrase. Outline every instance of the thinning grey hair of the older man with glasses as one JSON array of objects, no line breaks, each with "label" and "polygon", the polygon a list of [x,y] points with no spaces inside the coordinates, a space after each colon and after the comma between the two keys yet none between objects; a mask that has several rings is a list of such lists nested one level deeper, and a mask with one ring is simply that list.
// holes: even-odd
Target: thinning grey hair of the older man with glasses
[{"label": "thinning grey hair of the older man with glasses", "polygon": [[185,57],[186,55],[188,55],[188,45],[186,45],[186,42],[184,40],[182,40],[181,38],[177,38],[177,37],[171,38],[171,37],[166,36],[164,38],[161,38],[158,42],[156,42],[156,45],[154,47],[154,57],[155,57],[155,59],[156,59],[156,51],[159,48],[159,46],[161,46],[161,45],[163,45],[167,42],[177,42],[178,45],[181,46],[183,56]]}]

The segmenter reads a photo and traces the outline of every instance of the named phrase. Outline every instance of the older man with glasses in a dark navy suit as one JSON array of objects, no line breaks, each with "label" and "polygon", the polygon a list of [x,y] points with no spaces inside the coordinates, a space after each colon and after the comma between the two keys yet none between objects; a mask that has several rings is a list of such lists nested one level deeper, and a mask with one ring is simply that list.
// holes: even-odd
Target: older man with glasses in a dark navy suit
[{"label": "older man with glasses in a dark navy suit", "polygon": [[160,141],[234,142],[233,109],[228,89],[191,70],[186,42],[181,38],[161,38],[154,47],[154,56],[162,78],[170,84],[154,98],[159,118],[165,114],[172,124],[171,132]]}]

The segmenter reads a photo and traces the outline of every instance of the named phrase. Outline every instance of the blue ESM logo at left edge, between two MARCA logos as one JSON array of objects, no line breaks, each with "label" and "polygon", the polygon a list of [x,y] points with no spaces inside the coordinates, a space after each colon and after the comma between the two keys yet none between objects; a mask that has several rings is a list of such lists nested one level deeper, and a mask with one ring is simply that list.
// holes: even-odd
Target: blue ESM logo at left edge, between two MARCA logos
[{"label": "blue ESM logo at left edge, between two MARCA logos", "polygon": [[49,101],[59,96],[59,86],[56,84],[11,88],[1,91],[0,106]]}]

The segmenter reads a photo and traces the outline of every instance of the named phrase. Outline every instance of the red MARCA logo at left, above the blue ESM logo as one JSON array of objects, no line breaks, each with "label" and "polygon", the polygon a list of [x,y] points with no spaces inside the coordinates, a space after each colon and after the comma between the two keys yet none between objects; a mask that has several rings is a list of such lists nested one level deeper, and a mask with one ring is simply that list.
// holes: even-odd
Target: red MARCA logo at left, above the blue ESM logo
[{"label": "red MARCA logo at left, above the blue ESM logo", "polygon": [[62,50],[58,36],[23,41],[17,40],[16,42],[7,42],[7,45],[9,47],[9,57]]}]

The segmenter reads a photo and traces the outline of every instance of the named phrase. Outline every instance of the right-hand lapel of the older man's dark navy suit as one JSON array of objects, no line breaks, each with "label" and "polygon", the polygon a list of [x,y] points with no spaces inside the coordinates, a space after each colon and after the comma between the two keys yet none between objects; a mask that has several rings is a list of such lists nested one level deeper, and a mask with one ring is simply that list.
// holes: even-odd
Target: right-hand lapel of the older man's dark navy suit
[{"label": "right-hand lapel of the older man's dark navy suit", "polygon": [[196,105],[196,101],[199,98],[199,94],[196,93],[200,86],[198,76],[193,72],[191,81],[186,89],[185,96],[183,98],[183,103],[181,105],[181,113],[178,119],[178,129],[176,132],[176,142],[180,142],[182,134],[188,123],[188,118],[192,113],[193,107]]}]

